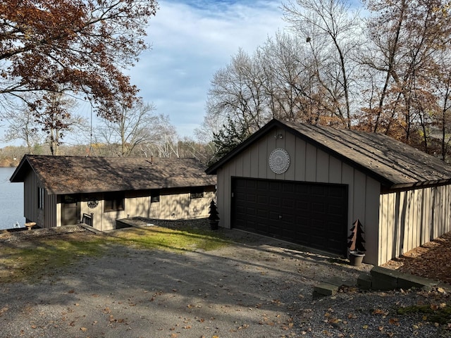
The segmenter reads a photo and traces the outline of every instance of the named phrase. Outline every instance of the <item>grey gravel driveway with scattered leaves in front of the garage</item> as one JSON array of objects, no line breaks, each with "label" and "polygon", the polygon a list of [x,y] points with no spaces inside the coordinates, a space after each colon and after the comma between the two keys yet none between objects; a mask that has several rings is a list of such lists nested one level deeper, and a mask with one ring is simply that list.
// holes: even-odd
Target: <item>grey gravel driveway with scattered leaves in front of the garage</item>
[{"label": "grey gravel driveway with scattered leaves in front of the garage", "polygon": [[314,298],[330,277],[362,270],[284,242],[245,239],[216,251],[114,246],[54,275],[0,284],[0,337],[451,337],[393,306],[448,302],[440,292],[359,292]]}]

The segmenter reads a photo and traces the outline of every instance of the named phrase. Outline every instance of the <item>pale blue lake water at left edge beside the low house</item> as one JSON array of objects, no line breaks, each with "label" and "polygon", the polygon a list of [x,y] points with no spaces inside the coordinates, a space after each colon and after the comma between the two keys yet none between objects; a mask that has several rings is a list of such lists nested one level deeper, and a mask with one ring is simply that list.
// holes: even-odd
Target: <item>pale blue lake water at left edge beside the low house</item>
[{"label": "pale blue lake water at left edge beside the low house", "polygon": [[24,227],[23,183],[11,183],[16,168],[0,168],[0,229],[10,229],[18,222]]}]

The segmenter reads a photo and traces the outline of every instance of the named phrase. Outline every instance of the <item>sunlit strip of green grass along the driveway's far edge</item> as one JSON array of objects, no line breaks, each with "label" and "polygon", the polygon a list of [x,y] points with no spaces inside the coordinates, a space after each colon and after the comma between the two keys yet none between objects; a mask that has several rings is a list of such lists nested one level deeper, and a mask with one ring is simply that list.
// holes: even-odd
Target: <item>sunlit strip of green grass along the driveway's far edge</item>
[{"label": "sunlit strip of green grass along the driveway's far edge", "polygon": [[2,244],[0,283],[39,280],[39,277],[66,268],[80,258],[101,256],[116,245],[183,253],[219,249],[229,244],[214,231],[170,230],[156,226],[147,229],[130,227],[109,234],[74,232],[38,237],[27,242]]}]

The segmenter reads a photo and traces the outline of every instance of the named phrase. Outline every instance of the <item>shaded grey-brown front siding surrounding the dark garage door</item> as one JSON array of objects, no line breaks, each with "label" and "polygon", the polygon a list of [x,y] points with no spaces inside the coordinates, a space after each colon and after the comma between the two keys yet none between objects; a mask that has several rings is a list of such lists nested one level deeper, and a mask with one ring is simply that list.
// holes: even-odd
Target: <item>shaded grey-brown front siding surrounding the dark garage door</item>
[{"label": "shaded grey-brown front siding surrounding the dark garage door", "polygon": [[[281,136],[281,138],[280,138]],[[268,158],[276,148],[290,154],[290,167],[283,174],[273,173]],[[231,227],[232,178],[334,183],[347,185],[348,227],[357,218],[364,225],[367,263],[378,261],[378,210],[381,184],[340,159],[305,142],[295,134],[275,128],[241,151],[217,170],[218,212],[222,227]]]}]

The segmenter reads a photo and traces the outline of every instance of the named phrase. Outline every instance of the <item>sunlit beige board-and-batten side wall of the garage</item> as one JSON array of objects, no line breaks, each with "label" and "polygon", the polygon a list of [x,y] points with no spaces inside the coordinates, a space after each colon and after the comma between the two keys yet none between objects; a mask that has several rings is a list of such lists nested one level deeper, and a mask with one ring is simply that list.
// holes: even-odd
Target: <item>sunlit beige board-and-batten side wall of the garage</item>
[{"label": "sunlit beige board-and-batten side wall of the garage", "polygon": [[381,194],[378,265],[451,231],[451,186]]}]

